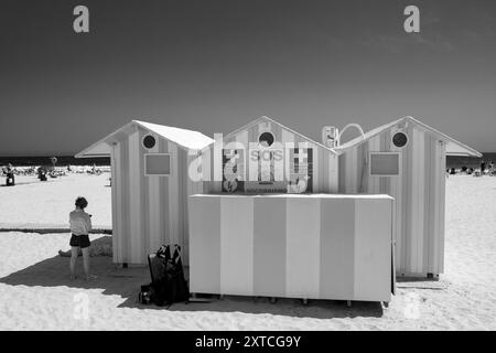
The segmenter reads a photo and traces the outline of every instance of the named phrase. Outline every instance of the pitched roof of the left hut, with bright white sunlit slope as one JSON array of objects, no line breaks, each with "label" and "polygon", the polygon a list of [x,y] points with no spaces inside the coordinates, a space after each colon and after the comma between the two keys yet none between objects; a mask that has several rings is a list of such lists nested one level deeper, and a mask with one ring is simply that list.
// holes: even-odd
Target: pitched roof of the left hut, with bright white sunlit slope
[{"label": "pitched roof of the left hut, with bright white sunlit slope", "polygon": [[106,157],[110,154],[110,143],[118,140],[122,135],[129,135],[136,131],[137,127],[141,127],[153,132],[186,150],[201,150],[214,142],[214,139],[198,131],[174,128],[165,125],[158,125],[140,120],[131,120],[120,129],[106,136],[101,140],[93,143],[87,149],[76,154],[76,158]]}]

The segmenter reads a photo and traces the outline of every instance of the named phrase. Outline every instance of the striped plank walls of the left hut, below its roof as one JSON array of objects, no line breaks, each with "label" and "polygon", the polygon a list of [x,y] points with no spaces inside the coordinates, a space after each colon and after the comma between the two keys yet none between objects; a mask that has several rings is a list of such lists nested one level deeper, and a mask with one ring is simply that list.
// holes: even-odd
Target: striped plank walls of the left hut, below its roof
[{"label": "striped plank walls of the left hut, below its roof", "polygon": [[[155,146],[145,149],[145,135]],[[145,153],[169,153],[170,174],[145,175]],[[187,178],[196,158],[163,137],[137,128],[111,143],[112,248],[114,263],[145,264],[147,255],[162,244],[180,244],[188,261],[187,196],[202,193],[203,183]]]}]

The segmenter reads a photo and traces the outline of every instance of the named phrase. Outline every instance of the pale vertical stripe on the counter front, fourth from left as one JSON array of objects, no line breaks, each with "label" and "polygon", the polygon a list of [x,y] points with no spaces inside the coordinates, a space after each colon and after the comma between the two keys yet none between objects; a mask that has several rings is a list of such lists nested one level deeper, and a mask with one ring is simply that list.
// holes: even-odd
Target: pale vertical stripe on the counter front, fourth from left
[{"label": "pale vertical stripe on the counter front, fourth from left", "polygon": [[320,208],[319,199],[287,200],[285,295],[289,297],[320,296]]}]

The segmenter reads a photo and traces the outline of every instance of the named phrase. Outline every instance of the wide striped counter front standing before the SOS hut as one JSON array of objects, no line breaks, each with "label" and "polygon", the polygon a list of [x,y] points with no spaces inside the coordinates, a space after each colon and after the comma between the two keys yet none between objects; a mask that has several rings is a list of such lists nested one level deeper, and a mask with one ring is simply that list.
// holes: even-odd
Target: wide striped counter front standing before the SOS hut
[{"label": "wide striped counter front standing before the SOS hut", "polygon": [[388,195],[190,196],[196,293],[389,301]]}]

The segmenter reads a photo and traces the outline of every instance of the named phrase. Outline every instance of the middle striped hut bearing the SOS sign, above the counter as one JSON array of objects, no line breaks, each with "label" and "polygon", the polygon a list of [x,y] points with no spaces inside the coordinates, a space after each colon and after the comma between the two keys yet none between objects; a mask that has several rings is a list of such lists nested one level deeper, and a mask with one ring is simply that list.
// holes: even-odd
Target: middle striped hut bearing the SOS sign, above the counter
[{"label": "middle striped hut bearing the SOS sign, above the counter", "polygon": [[337,192],[337,153],[272,118],[255,119],[208,149],[203,154],[208,192],[287,193],[299,182],[304,184],[299,192]]}]

